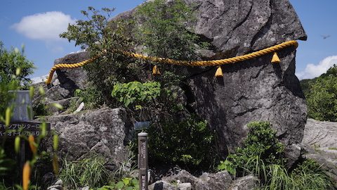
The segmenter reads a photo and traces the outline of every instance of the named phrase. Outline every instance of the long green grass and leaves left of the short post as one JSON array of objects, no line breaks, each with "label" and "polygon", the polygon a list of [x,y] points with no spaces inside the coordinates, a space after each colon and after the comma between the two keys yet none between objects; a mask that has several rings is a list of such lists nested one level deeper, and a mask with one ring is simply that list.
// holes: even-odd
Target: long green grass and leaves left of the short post
[{"label": "long green grass and leaves left of the short post", "polygon": [[62,179],[65,189],[89,186],[90,189],[100,190],[136,190],[136,156],[130,151],[133,146],[128,144],[128,159],[120,163],[117,170],[108,170],[107,160],[102,156],[91,155],[76,161],[63,160],[58,177]]}]

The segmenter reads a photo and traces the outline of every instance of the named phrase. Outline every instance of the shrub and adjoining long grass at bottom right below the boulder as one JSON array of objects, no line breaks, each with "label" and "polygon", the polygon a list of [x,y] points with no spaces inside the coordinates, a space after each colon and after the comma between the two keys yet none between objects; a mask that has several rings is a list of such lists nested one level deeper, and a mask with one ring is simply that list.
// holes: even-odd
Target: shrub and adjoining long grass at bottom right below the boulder
[{"label": "shrub and adjoining long grass at bottom right below the boulder", "polygon": [[333,189],[333,182],[314,160],[303,159],[294,169],[286,169],[284,145],[269,122],[250,122],[248,127],[242,148],[221,161],[218,170],[234,177],[256,175],[260,189]]}]

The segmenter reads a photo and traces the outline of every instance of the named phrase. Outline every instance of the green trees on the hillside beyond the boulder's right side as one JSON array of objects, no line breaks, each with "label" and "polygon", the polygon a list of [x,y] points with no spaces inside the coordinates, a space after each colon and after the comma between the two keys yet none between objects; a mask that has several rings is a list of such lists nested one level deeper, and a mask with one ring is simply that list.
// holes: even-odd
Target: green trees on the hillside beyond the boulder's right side
[{"label": "green trees on the hillside beyond the boulder's right side", "polygon": [[305,87],[303,91],[308,103],[309,118],[336,122],[337,65],[333,65],[326,73],[314,80],[305,80],[301,84]]}]

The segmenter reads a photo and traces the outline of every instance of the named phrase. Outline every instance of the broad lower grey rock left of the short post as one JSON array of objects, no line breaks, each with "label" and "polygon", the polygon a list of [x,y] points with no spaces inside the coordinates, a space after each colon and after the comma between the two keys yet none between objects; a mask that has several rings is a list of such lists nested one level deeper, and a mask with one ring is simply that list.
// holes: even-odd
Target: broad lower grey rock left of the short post
[{"label": "broad lower grey rock left of the short post", "polygon": [[[133,125],[126,110],[99,110],[47,118],[51,129],[59,135],[60,158],[78,160],[99,154],[107,158],[111,169],[128,159],[126,144],[131,139]],[[52,142],[46,145],[51,151]],[[50,149],[50,150],[49,150]]]}]

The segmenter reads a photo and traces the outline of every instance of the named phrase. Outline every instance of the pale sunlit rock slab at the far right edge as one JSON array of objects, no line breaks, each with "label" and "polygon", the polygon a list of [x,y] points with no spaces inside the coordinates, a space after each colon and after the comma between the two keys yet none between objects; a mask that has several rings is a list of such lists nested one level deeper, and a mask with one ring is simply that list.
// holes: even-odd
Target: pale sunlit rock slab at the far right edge
[{"label": "pale sunlit rock slab at the far right edge", "polygon": [[337,182],[337,122],[308,119],[303,145],[305,157],[316,160]]}]

